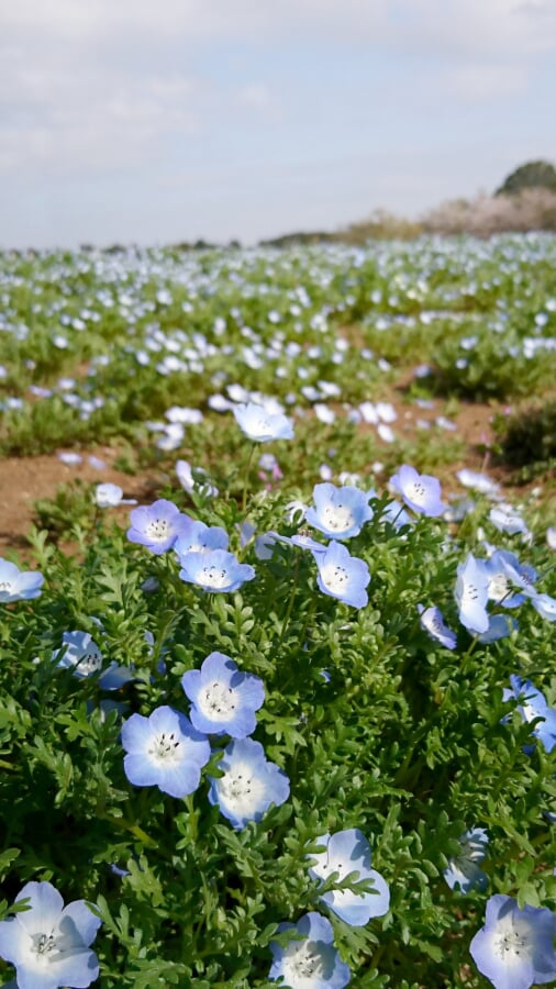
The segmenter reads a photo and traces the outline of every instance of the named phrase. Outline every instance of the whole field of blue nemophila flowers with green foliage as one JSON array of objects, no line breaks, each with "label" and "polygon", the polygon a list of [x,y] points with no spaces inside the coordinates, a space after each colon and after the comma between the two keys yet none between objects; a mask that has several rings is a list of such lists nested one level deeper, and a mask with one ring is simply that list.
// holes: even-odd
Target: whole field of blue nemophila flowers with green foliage
[{"label": "whole field of blue nemophila flowers with green foliage", "polygon": [[68,471],[0,559],[8,985],[556,980],[554,482],[458,429],[551,393],[555,255],[2,258],[1,449]]}]

